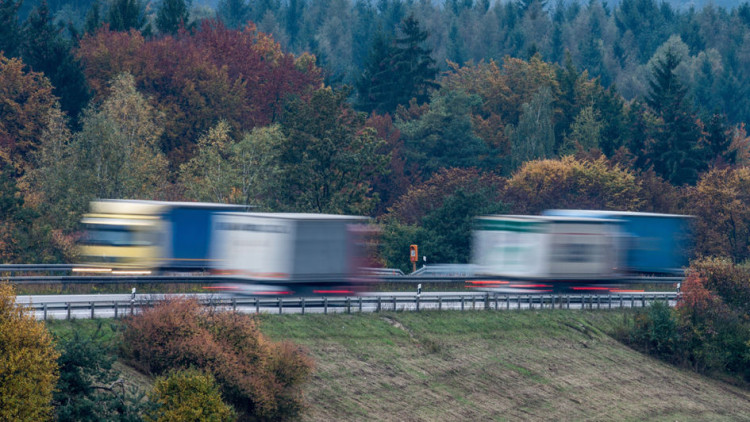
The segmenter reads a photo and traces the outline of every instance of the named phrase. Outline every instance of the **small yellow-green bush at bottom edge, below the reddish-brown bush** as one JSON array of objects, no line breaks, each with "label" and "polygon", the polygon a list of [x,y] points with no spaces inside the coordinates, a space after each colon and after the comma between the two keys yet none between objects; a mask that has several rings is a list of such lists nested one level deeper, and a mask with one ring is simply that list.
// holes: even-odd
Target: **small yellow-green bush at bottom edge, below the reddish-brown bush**
[{"label": "small yellow-green bush at bottom edge, below the reddish-brown bush", "polygon": [[176,371],[157,378],[149,399],[155,405],[144,418],[149,422],[235,419],[232,407],[221,399],[214,377],[197,369]]}]

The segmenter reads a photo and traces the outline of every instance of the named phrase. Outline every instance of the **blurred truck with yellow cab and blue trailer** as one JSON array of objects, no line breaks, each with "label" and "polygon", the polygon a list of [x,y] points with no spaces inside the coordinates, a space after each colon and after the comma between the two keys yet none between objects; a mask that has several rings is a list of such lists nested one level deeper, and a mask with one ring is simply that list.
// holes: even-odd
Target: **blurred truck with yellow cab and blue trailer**
[{"label": "blurred truck with yellow cab and blue trailer", "polygon": [[114,270],[204,270],[211,266],[214,215],[244,209],[203,202],[92,201],[82,220],[82,264]]}]

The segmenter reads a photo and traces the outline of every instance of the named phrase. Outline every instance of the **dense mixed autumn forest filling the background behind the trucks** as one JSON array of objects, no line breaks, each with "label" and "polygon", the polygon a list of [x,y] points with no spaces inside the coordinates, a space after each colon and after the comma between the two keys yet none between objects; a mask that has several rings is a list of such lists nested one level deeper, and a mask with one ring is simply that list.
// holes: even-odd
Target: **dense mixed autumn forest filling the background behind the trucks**
[{"label": "dense mixed autumn forest filling the background behind the trucks", "polygon": [[473,216],[690,213],[750,256],[750,4],[0,0],[0,256],[94,198],[352,213],[465,262]]}]

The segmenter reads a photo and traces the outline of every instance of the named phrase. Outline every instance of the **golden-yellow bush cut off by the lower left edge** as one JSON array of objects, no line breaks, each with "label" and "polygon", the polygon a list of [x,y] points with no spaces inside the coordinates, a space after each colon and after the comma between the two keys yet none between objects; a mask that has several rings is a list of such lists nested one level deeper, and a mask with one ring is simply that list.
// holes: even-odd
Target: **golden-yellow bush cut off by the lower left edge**
[{"label": "golden-yellow bush cut off by the lower left edge", "polygon": [[0,420],[50,419],[58,356],[44,324],[0,283]]}]

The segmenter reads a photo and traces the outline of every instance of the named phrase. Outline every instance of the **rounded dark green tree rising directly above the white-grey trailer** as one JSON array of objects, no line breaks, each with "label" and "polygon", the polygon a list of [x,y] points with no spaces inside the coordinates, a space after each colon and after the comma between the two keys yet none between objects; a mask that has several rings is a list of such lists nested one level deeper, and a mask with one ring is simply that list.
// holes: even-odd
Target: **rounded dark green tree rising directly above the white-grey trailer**
[{"label": "rounded dark green tree rising directly above the white-grey trailer", "polygon": [[321,88],[309,101],[292,99],[281,118],[278,149],[280,205],[284,209],[368,214],[377,203],[370,182],[388,156],[365,116],[346,103],[347,91]]}]

